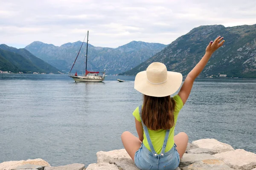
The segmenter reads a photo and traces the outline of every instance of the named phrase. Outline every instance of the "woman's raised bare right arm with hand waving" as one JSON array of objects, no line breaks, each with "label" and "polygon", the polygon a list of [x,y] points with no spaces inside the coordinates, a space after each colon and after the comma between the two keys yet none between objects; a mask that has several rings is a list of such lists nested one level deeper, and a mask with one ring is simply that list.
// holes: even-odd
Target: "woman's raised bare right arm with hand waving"
[{"label": "woman's raised bare right arm with hand waving", "polygon": [[187,75],[178,93],[181,100],[183,101],[183,104],[185,104],[186,100],[189,98],[189,94],[191,92],[195,78],[198,77],[198,75],[203,71],[205,65],[207,64],[208,60],[211,58],[213,52],[217,50],[219,47],[221,47],[223,43],[224,43],[223,37],[216,38],[214,42],[211,41],[205,50],[206,52],[204,54],[204,57]]}]

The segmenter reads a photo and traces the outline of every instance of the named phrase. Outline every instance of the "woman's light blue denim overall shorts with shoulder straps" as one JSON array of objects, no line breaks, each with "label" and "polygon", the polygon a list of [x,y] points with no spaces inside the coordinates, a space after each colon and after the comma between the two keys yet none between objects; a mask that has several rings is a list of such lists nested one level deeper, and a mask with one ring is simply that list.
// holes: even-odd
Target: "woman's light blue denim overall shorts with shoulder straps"
[{"label": "woman's light blue denim overall shorts with shoulder straps", "polygon": [[[141,119],[141,110],[142,105],[139,106],[139,112],[140,112],[140,119]],[[142,122],[142,119],[141,119]],[[148,150],[144,146],[144,144],[141,144],[141,147],[134,155],[134,162],[135,165],[140,168],[140,170],[175,170],[180,163],[180,155],[177,152],[176,144],[172,147],[171,150],[165,153],[166,149],[166,143],[168,141],[170,130],[166,130],[165,139],[163,142],[163,147],[161,150],[161,153],[158,155],[154,147],[152,145],[148,128],[145,126],[145,124],[142,122],[143,130],[145,132],[145,135],[148,140],[149,147],[151,151]]]}]

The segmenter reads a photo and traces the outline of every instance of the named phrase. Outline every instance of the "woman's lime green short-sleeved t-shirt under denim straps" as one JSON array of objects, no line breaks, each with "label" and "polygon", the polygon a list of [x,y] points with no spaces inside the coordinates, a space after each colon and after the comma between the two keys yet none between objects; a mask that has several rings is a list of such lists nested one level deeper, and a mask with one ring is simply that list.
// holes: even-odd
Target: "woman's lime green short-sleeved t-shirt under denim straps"
[{"label": "woman's lime green short-sleeved t-shirt under denim straps", "polygon": [[[175,107],[175,111],[174,111],[174,120],[175,120],[175,125],[176,125],[178,114],[180,112],[180,109],[183,107],[183,102],[180,99],[179,95],[175,95],[172,98],[176,102],[176,107]],[[135,111],[133,112],[133,115],[137,119],[137,121],[141,122],[139,107],[137,107],[135,109]],[[167,141],[167,144],[166,144],[165,152],[168,152],[169,150],[171,150],[173,145],[174,145],[174,139],[173,139],[174,138],[174,130],[175,130],[175,126],[170,129],[169,138],[168,138],[168,141]],[[166,130],[157,130],[157,131],[155,131],[155,130],[148,129],[148,133],[149,133],[151,142],[153,144],[154,150],[157,152],[157,154],[160,154],[161,150],[162,150]],[[145,145],[146,148],[148,148],[148,150],[151,151],[144,130],[143,130],[143,136],[144,136],[143,144]]]}]

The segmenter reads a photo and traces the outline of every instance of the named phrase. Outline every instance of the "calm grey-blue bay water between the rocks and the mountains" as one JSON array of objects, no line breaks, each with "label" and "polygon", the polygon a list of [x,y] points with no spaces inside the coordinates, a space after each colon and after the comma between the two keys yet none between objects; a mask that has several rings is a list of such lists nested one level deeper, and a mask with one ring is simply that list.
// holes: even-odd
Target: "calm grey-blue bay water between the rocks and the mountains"
[{"label": "calm grey-blue bay water between the rocks and the mountains", "polygon": [[[67,75],[0,74],[0,162],[95,163],[97,151],[123,148],[123,131],[137,135],[132,113],[141,102],[134,77],[75,83]],[[175,134],[256,153],[255,125],[256,79],[198,78]]]}]

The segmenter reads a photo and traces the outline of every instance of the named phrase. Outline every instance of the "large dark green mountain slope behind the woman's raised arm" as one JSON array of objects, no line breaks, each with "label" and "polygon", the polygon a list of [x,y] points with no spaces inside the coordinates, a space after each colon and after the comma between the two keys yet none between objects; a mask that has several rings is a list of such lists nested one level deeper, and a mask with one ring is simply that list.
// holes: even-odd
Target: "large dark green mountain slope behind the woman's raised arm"
[{"label": "large dark green mountain slope behind the woman's raised arm", "polygon": [[199,26],[120,75],[136,75],[152,62],[163,62],[169,71],[186,76],[203,57],[209,42],[218,36],[224,37],[224,45],[215,51],[200,76],[226,74],[227,77],[256,78],[256,24],[227,28],[222,25]]}]

